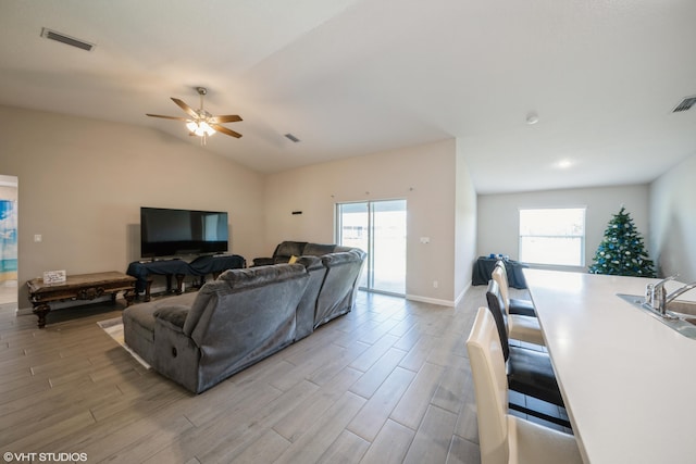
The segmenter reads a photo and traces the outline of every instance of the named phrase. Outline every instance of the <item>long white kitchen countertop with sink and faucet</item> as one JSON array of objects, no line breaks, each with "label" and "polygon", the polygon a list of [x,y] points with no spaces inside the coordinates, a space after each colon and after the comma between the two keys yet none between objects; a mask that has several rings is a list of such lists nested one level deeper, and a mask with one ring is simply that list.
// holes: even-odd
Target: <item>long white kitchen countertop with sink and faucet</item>
[{"label": "long white kitchen countertop with sink and faucet", "polygon": [[524,275],[585,462],[696,463],[696,340],[617,297],[657,279]]}]

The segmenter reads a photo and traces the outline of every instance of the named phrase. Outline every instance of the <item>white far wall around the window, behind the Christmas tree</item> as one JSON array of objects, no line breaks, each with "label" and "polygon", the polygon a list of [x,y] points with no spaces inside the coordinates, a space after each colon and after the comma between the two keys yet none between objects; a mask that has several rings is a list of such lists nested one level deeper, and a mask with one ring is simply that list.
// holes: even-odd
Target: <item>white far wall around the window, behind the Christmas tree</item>
[{"label": "white far wall around the window, behind the Christmas tree", "polygon": [[[478,255],[501,253],[519,259],[520,209],[585,206],[585,266],[564,268],[586,271],[609,221],[621,205],[626,208],[648,246],[648,196],[647,185],[478,196]],[[650,259],[655,261],[652,254]]]}]

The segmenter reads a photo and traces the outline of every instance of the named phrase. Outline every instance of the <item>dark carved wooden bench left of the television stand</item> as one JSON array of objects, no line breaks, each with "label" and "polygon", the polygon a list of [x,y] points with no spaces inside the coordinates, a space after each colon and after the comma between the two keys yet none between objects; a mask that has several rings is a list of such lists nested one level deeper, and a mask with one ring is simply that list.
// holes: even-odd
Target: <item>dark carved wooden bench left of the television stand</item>
[{"label": "dark carved wooden bench left of the television stand", "polygon": [[46,315],[51,311],[49,303],[69,300],[94,300],[104,294],[111,294],[112,301],[116,293],[123,291],[126,306],[130,305],[136,294],[136,278],[115,271],[96,274],[79,274],[67,276],[64,283],[44,284],[42,278],[27,281],[29,300],[34,305],[34,314],[39,318],[39,328],[46,326]]}]

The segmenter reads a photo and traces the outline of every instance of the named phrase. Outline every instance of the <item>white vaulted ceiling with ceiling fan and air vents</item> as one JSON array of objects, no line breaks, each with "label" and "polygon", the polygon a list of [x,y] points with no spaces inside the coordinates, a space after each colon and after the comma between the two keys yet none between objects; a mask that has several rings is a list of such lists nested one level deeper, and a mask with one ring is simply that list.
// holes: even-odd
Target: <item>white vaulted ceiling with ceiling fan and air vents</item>
[{"label": "white vaulted ceiling with ceiling fan and air vents", "polygon": [[695,46],[694,0],[2,0],[0,104],[197,143],[145,113],[204,86],[261,172],[457,137],[480,193],[634,184],[696,153]]}]

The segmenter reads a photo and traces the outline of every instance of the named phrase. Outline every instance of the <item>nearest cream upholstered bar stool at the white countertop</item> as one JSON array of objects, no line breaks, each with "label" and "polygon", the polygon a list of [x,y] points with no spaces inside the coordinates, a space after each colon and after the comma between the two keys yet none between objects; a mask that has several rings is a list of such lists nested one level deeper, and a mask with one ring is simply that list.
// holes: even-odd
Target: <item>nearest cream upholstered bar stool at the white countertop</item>
[{"label": "nearest cream upholstered bar stool at the white countertop", "polygon": [[508,414],[502,346],[492,313],[480,308],[467,340],[483,464],[582,463],[575,438]]}]

